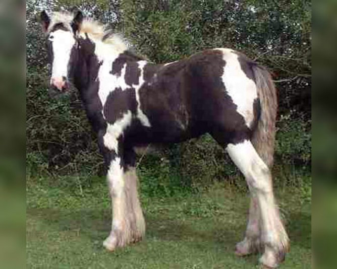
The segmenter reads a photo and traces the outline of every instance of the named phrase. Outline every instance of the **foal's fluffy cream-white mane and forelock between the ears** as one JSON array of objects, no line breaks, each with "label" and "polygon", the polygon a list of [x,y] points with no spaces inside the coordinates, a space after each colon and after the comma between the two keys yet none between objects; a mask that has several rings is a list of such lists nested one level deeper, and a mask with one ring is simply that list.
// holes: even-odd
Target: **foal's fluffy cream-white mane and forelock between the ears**
[{"label": "foal's fluffy cream-white mane and forelock between the ears", "polygon": [[[71,23],[74,15],[70,12],[53,12],[48,31],[51,31],[57,24],[63,24],[72,31]],[[125,51],[130,48],[129,43],[119,33],[112,33],[102,23],[91,18],[85,18],[80,26],[80,35],[88,34],[91,38],[101,41],[104,44],[113,46],[117,51]]]}]

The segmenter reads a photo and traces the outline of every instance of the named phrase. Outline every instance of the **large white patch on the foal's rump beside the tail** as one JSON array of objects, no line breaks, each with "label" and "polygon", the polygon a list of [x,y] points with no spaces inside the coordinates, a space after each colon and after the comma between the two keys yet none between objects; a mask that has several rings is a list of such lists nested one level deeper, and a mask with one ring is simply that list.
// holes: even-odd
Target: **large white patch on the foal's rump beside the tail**
[{"label": "large white patch on the foal's rump beside the tail", "polygon": [[251,127],[254,120],[254,100],[257,98],[255,83],[242,71],[238,55],[232,49],[217,48],[223,54],[226,65],[223,68],[222,82],[226,91],[237,105],[237,111],[244,117],[246,125]]}]

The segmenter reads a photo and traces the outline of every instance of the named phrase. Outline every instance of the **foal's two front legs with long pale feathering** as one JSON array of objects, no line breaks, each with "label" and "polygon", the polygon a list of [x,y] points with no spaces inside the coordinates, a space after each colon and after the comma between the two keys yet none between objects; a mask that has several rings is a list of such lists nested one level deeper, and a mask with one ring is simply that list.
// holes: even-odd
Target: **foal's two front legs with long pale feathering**
[{"label": "foal's two front legs with long pale feathering", "polygon": [[103,245],[109,251],[140,241],[145,234],[145,221],[137,193],[135,153],[132,149],[125,149],[121,142],[116,143],[118,150],[110,150],[108,154],[107,182],[113,204],[113,221]]}]

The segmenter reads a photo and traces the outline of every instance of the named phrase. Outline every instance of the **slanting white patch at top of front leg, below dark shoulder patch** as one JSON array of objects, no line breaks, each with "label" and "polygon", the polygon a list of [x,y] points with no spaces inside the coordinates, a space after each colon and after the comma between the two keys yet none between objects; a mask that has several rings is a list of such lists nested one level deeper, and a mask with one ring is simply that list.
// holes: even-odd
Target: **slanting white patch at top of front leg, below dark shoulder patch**
[{"label": "slanting white patch at top of front leg, below dark shoulder patch", "polygon": [[104,146],[110,151],[118,154],[118,138],[123,134],[126,127],[130,126],[132,113],[128,110],[122,118],[116,120],[113,124],[107,123],[106,132],[103,136]]}]

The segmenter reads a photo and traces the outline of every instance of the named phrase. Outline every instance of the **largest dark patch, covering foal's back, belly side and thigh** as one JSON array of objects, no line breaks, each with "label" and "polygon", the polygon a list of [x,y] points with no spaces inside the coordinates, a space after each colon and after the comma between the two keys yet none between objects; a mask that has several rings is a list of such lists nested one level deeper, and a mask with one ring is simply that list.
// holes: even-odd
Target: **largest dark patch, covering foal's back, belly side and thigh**
[{"label": "largest dark patch, covering foal's back, belly side and thigh", "polygon": [[206,50],[166,66],[145,65],[140,108],[151,129],[143,142],[179,142],[209,132],[226,146],[251,136],[222,83],[222,55]]}]

